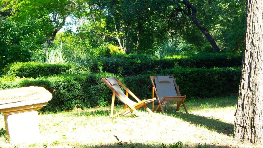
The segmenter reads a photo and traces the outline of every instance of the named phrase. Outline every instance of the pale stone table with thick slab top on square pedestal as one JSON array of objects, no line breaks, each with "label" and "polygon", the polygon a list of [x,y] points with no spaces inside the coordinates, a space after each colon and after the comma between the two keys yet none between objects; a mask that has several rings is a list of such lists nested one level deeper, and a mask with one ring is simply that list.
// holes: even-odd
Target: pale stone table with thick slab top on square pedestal
[{"label": "pale stone table with thick slab top on square pedestal", "polygon": [[0,91],[0,112],[12,144],[39,141],[38,112],[52,94],[43,87],[21,87]]}]

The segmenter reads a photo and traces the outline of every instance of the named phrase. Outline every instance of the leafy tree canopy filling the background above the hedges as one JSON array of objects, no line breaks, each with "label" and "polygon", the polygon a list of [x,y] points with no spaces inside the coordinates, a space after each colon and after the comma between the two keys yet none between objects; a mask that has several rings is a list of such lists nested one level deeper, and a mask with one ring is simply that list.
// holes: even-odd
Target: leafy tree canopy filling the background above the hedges
[{"label": "leafy tree canopy filling the background above the hedges", "polygon": [[[213,36],[221,52],[242,51],[245,0],[189,2],[196,7],[196,17]],[[165,0],[3,0],[0,2],[1,24],[4,24],[0,41],[8,44],[1,44],[4,45],[1,53],[5,55],[0,56],[0,62],[23,61],[23,56],[13,57],[19,52],[16,50],[22,50],[19,52],[22,55],[32,55],[29,52],[43,49],[39,43],[59,43],[56,40],[60,38],[58,31],[62,28],[65,32],[60,36],[65,36],[63,41],[70,42],[73,51],[105,52],[106,46],[117,53],[149,53],[179,37],[180,42],[195,46],[192,51],[213,52],[203,33],[190,18],[178,11],[179,7],[183,8],[180,1]],[[9,31],[10,28],[14,31]],[[12,42],[1,39],[4,36]],[[5,52],[11,51],[14,45],[19,48]],[[42,52],[35,51],[34,54]]]}]

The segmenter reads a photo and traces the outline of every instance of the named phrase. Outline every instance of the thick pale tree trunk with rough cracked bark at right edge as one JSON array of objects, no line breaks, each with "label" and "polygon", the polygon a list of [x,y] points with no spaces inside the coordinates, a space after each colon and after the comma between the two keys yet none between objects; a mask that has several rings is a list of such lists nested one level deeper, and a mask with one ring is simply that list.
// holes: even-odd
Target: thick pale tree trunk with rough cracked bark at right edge
[{"label": "thick pale tree trunk with rough cracked bark at right edge", "polygon": [[263,144],[263,1],[247,0],[243,64],[234,137]]}]

